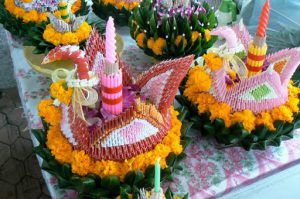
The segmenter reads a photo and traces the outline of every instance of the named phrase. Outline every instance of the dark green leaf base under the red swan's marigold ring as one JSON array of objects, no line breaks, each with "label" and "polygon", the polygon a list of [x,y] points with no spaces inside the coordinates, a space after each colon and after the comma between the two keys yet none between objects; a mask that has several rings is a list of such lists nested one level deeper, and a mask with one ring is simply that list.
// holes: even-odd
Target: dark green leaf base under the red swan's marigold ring
[{"label": "dark green leaf base under the red swan's marigold ring", "polygon": [[[180,113],[183,114],[183,113]],[[188,137],[186,132],[191,127],[190,123],[186,123],[185,118],[182,117],[182,142],[187,143]],[[74,189],[79,193],[79,198],[128,198],[132,194],[134,199],[138,198],[139,189],[151,189],[154,186],[154,166],[149,166],[145,173],[141,171],[132,171],[127,173],[124,182],[120,181],[117,176],[109,176],[101,178],[95,174],[89,174],[85,177],[80,177],[72,173],[69,164],[60,164],[52,156],[51,152],[46,146],[46,137],[49,125],[43,121],[44,130],[34,130],[33,134],[39,141],[40,145],[34,148],[34,152],[42,159],[42,169],[54,175],[58,180],[60,188]],[[173,179],[173,174],[182,170],[180,163],[186,157],[184,153],[176,156],[174,153],[167,157],[168,167],[161,172],[161,181],[170,181]],[[167,191],[167,195],[173,196],[171,190]],[[187,197],[187,196],[185,196]],[[170,198],[170,197],[167,197]],[[171,198],[170,198],[171,199]]]}]

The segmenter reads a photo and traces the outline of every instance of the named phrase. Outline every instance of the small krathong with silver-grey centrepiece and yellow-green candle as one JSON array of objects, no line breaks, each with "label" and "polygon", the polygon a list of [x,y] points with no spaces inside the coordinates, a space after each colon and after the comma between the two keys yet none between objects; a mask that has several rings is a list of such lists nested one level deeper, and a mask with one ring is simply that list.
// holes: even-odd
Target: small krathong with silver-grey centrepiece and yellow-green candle
[{"label": "small krathong with silver-grey centrepiece and yellow-green candle", "polygon": [[60,0],[58,15],[48,13],[49,24],[32,28],[26,46],[34,46],[34,54],[47,54],[55,46],[83,46],[91,33],[91,26],[86,21],[87,15],[76,17],[72,13],[74,1]]}]

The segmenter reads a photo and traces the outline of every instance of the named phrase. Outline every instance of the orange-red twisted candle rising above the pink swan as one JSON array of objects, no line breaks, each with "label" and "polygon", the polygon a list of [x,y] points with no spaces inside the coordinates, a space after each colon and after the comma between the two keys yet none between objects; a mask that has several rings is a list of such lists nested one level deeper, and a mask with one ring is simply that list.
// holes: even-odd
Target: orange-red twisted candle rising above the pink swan
[{"label": "orange-red twisted candle rising above the pink swan", "polygon": [[266,0],[266,3],[260,15],[256,36],[258,37],[266,36],[266,30],[269,23],[269,15],[270,15],[270,0]]}]

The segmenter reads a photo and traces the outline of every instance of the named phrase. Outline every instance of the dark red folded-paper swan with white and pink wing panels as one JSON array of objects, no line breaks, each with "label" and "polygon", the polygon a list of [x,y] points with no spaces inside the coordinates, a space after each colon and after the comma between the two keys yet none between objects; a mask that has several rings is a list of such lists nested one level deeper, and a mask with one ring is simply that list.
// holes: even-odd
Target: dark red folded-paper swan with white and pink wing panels
[{"label": "dark red folded-paper swan with white and pink wing panels", "polygon": [[[45,60],[73,60],[77,64],[79,80],[86,82],[91,79],[88,75],[91,71],[103,69],[98,56],[104,54],[103,42],[98,32],[93,30],[86,51],[74,50],[73,46],[56,47]],[[132,102],[127,107],[123,106],[121,114],[101,118],[92,125],[75,114],[71,105],[62,104],[63,134],[75,148],[85,150],[96,160],[123,161],[152,150],[171,128],[169,108],[193,58],[188,56],[161,62],[136,79],[129,75],[125,64],[118,59],[123,73],[123,88],[131,92]],[[98,75],[100,78],[101,75]],[[94,89],[99,90],[99,87],[101,85],[98,84]],[[126,101],[126,96],[123,101]],[[101,99],[97,106],[97,110],[101,109]]]}]

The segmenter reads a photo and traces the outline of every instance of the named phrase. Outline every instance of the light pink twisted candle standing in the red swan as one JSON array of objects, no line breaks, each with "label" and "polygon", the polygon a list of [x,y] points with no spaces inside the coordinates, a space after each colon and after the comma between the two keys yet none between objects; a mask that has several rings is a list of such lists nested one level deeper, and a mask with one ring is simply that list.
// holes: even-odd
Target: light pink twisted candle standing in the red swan
[{"label": "light pink twisted candle standing in the red swan", "polygon": [[105,57],[110,64],[116,63],[116,29],[114,19],[109,17],[106,24]]}]

